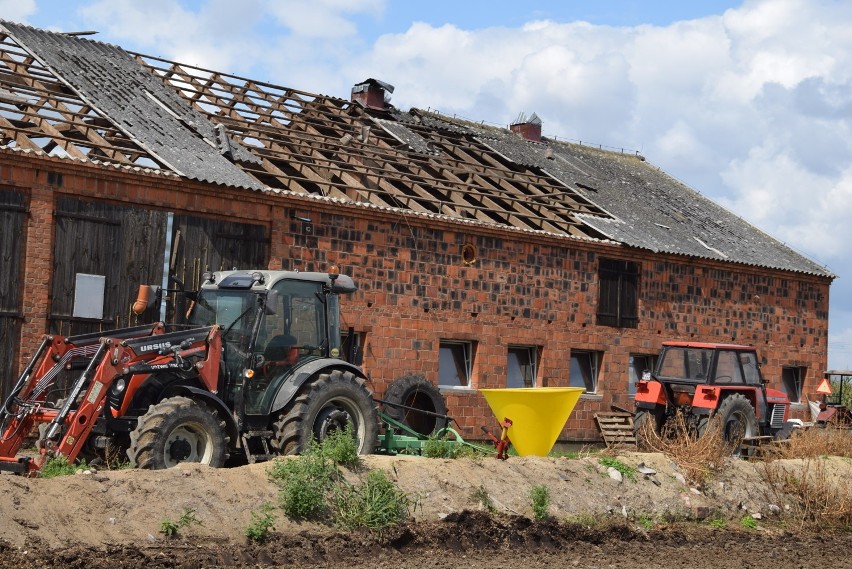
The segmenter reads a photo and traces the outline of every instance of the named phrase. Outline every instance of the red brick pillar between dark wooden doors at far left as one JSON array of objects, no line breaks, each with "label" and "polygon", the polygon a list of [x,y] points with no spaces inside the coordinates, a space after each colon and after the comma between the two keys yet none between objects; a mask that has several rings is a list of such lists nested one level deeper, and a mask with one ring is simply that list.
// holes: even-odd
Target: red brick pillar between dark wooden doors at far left
[{"label": "red brick pillar between dark wooden doors at far left", "polygon": [[30,197],[30,219],[26,230],[26,265],[23,280],[21,326],[21,369],[47,331],[50,285],[53,274],[53,189],[34,185]]}]

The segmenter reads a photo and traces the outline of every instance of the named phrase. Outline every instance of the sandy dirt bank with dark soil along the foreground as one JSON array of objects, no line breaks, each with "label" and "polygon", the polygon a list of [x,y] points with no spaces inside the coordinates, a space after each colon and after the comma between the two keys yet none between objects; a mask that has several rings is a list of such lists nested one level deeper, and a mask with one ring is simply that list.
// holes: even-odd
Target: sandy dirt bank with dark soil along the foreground
[{"label": "sandy dirt bank with dark soil along the foreground", "polygon": [[[708,484],[695,488],[663,455],[625,453],[619,460],[642,470],[632,479],[617,480],[597,457],[498,461],[369,456],[364,459],[365,470],[385,470],[417,502],[412,523],[381,535],[344,534],[279,516],[271,539],[263,545],[249,543],[244,531],[253,511],[276,501],[277,487],[268,479],[268,465],[230,469],[182,465],[165,471],[101,471],[49,480],[3,475],[0,549],[4,566],[90,569],[493,567],[495,563],[533,568],[606,560],[621,567],[704,565],[691,550],[704,550],[705,561],[708,551],[711,555],[716,551],[716,567],[756,565],[770,558],[785,566],[784,559],[792,563],[805,552],[811,561],[828,563],[832,555],[844,551],[843,536],[817,539],[767,529],[779,527],[772,520],[790,504],[764,482],[760,463],[732,460]],[[847,484],[852,463],[832,458],[827,464],[830,476]],[[787,468],[799,466],[796,461],[785,462]],[[355,479],[363,472],[347,476]],[[550,489],[551,521],[530,519],[529,489],[535,484]],[[496,514],[481,511],[483,495],[491,499]],[[199,523],[182,528],[176,537],[160,533],[163,520],[177,520],[187,511]],[[752,514],[762,518],[763,529],[711,530],[703,524],[705,529],[700,530],[698,524],[677,523],[712,517],[738,528],[739,520]],[[729,548],[734,546],[746,558],[733,559]],[[673,550],[671,556],[667,548]]]}]

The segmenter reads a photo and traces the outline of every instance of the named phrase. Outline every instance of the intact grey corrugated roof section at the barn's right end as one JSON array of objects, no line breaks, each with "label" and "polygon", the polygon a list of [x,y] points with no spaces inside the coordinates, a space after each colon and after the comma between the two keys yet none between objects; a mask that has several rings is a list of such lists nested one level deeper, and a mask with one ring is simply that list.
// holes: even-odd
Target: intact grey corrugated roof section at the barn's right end
[{"label": "intact grey corrugated roof section at the barn's right end", "polygon": [[483,132],[479,139],[518,164],[546,171],[612,214],[579,217],[614,241],[654,252],[834,276],[635,155],[532,143],[508,133]]}]

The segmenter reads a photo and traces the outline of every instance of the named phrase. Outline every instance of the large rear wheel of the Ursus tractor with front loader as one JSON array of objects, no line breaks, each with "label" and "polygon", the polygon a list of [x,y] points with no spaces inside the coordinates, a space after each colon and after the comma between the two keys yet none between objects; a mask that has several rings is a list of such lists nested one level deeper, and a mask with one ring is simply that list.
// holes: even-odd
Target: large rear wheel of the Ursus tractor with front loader
[{"label": "large rear wheel of the Ursus tractor with front loader", "polygon": [[311,440],[322,442],[332,432],[352,428],[358,454],[376,449],[379,416],[373,394],[352,372],[333,370],[306,382],[273,424],[273,447],[280,454],[304,452]]}]

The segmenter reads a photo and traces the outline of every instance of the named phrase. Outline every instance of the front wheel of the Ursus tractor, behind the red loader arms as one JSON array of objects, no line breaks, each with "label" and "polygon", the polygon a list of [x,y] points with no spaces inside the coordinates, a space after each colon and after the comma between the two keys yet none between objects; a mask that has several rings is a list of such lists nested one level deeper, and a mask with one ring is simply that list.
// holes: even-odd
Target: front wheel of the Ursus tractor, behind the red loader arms
[{"label": "front wheel of the Ursus tractor, behind the red loader arms", "polygon": [[181,462],[220,467],[228,459],[225,422],[203,403],[169,397],[148,407],[130,433],[127,456],[137,468],[160,470]]}]

